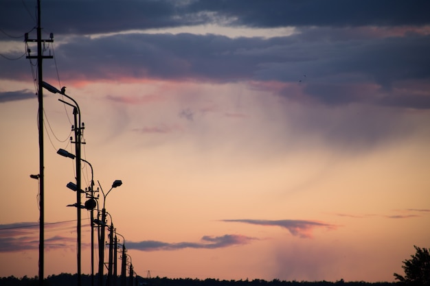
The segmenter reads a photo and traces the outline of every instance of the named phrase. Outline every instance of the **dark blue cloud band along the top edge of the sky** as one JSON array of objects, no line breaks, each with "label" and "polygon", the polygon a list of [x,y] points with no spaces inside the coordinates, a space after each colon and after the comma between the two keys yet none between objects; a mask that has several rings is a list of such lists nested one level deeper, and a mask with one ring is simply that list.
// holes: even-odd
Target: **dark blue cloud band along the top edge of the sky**
[{"label": "dark blue cloud band along the top edge of the sky", "polygon": [[[0,27],[9,34],[36,26],[34,1],[2,3]],[[248,27],[425,25],[429,1],[234,0],[42,2],[43,26],[60,34],[97,34],[129,29],[221,23]],[[16,21],[20,19],[20,21]],[[55,31],[52,31],[55,29]]]}]

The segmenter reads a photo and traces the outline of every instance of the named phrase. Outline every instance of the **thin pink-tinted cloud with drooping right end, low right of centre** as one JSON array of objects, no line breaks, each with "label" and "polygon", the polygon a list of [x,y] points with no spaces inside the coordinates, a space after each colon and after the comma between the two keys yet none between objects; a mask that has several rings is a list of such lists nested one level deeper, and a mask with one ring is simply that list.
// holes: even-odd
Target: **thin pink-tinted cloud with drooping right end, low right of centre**
[{"label": "thin pink-tinted cloud with drooping right end, low right of centre", "polygon": [[286,228],[291,235],[309,238],[312,237],[311,232],[314,228],[327,228],[335,229],[337,226],[334,224],[326,224],[325,222],[317,222],[312,220],[302,219],[281,219],[281,220],[267,220],[267,219],[223,219],[223,222],[242,222],[245,224],[256,224],[258,226],[280,226]]}]

